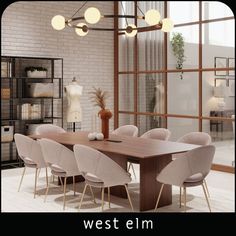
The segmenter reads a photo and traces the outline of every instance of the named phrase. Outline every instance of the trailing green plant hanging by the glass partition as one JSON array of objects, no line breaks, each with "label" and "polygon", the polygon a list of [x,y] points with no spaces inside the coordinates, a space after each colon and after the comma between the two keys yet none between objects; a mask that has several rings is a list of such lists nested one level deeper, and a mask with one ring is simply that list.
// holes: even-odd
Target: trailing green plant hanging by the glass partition
[{"label": "trailing green plant hanging by the glass partition", "polygon": [[[171,46],[176,57],[176,69],[183,69],[183,63],[185,61],[184,55],[184,38],[181,33],[173,33],[171,38]],[[180,79],[183,79],[183,72],[180,74]]]}]

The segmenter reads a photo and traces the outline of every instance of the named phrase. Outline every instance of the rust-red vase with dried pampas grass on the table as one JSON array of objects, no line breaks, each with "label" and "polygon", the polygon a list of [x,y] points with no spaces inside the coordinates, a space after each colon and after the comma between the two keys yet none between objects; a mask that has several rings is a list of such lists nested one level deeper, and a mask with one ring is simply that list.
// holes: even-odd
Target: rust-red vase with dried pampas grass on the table
[{"label": "rust-red vase with dried pampas grass on the table", "polygon": [[109,97],[107,91],[102,91],[100,88],[93,87],[94,91],[90,92],[92,96],[90,97],[91,101],[94,103],[95,106],[101,108],[98,112],[102,120],[102,133],[104,138],[109,137],[109,119],[112,117],[112,112],[109,109],[106,109],[106,100]]}]

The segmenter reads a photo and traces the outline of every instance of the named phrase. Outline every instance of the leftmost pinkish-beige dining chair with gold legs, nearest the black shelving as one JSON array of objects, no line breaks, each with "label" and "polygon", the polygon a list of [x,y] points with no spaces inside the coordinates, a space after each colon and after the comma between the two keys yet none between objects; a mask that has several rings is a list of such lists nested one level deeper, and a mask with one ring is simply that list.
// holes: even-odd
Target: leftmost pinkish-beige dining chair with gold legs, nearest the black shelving
[{"label": "leftmost pinkish-beige dining chair with gold legs, nearest the black shelving", "polygon": [[41,147],[38,141],[33,140],[25,135],[15,133],[14,140],[16,143],[16,149],[19,157],[24,162],[24,169],[21,176],[20,184],[18,187],[18,192],[20,191],[21,184],[25,175],[26,168],[35,169],[35,181],[34,181],[34,198],[36,196],[37,180],[39,177],[39,170],[41,168],[46,168],[46,184],[48,186],[48,172],[47,164],[44,160],[43,154],[41,152]]}]

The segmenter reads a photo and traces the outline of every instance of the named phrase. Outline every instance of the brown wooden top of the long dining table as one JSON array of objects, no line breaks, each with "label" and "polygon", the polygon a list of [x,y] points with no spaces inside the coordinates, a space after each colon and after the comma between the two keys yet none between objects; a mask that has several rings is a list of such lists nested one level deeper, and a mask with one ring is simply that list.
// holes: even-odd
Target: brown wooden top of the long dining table
[{"label": "brown wooden top of the long dining table", "polygon": [[87,131],[78,131],[50,135],[30,135],[30,137],[34,139],[48,138],[66,146],[82,144],[102,152],[122,154],[137,159],[181,153],[199,147],[193,144],[120,135],[110,135],[109,140],[121,142],[89,141],[88,133]]}]

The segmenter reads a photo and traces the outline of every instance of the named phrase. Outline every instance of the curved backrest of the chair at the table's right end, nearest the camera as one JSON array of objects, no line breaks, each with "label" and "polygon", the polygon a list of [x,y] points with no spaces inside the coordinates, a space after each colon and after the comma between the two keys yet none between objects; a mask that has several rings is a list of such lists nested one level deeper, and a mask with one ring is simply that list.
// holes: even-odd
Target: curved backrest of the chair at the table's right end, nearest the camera
[{"label": "curved backrest of the chair at the table's right end, nearest the camera", "polygon": [[182,186],[184,181],[194,174],[201,173],[205,178],[210,172],[214,154],[213,145],[190,150],[182,158],[169,163],[157,176],[157,180],[164,184]]}]

